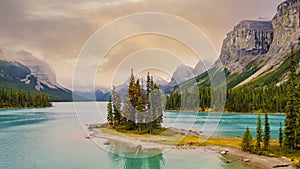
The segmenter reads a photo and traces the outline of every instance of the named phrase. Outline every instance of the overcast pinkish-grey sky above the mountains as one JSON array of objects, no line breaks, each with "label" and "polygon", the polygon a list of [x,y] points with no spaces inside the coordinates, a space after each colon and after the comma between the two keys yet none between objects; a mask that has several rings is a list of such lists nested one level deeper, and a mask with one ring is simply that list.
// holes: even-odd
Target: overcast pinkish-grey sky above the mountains
[{"label": "overcast pinkish-grey sky above the mountains", "polygon": [[[103,25],[119,17],[137,12],[164,12],[180,16],[195,24],[212,42],[217,53],[220,53],[222,41],[234,25],[245,19],[272,18],[277,5],[282,1],[1,0],[0,48],[22,49],[33,53],[56,70],[59,83],[71,87],[74,65],[86,41]],[[150,57],[151,51],[132,54],[149,48],[156,48],[152,50],[156,57],[172,53],[189,66],[193,67],[198,62],[188,48],[174,39],[157,35],[131,37],[114,46],[107,54],[106,57],[111,59],[99,68],[96,86],[109,87],[112,81],[118,82],[112,79],[113,72],[122,72],[123,69],[127,71],[128,67],[142,65],[138,58]],[[130,59],[129,55],[136,59],[122,62],[120,58]],[[175,70],[179,60],[170,59],[167,72]],[[120,65],[121,62],[126,66]]]}]

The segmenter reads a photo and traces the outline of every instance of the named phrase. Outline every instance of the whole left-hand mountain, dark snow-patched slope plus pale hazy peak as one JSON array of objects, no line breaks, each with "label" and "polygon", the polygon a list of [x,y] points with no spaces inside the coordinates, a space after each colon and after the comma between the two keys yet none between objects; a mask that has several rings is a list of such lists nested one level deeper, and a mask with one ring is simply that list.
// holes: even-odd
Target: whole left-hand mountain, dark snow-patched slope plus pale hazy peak
[{"label": "whole left-hand mountain, dark snow-patched slope plus pale hazy peak", "polygon": [[29,52],[0,52],[0,87],[49,94],[55,101],[71,101],[72,92],[56,82],[49,65]]}]

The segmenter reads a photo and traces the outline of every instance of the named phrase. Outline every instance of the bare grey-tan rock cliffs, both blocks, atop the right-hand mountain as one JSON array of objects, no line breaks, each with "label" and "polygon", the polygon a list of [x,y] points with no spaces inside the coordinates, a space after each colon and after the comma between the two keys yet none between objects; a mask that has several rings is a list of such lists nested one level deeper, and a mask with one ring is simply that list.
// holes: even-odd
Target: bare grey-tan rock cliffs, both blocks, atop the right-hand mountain
[{"label": "bare grey-tan rock cliffs, both blocks, atop the right-hand mountain", "polygon": [[[262,68],[249,79],[276,68],[291,47],[298,47],[300,0],[287,0],[277,7],[272,21],[242,21],[227,34],[220,59],[230,72],[242,72],[255,61]],[[249,80],[248,80],[249,81]]]}]

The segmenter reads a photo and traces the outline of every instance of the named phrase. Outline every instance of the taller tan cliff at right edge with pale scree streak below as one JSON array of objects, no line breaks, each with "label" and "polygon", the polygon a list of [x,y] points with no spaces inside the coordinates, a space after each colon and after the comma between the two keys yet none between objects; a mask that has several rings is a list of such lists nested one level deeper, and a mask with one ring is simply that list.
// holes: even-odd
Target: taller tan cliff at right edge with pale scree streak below
[{"label": "taller tan cliff at right edge with pale scree streak below", "polygon": [[272,25],[274,38],[269,52],[257,59],[257,63],[260,62],[262,68],[240,85],[279,67],[286,60],[292,46],[294,49],[299,49],[300,0],[287,0],[279,4]]}]

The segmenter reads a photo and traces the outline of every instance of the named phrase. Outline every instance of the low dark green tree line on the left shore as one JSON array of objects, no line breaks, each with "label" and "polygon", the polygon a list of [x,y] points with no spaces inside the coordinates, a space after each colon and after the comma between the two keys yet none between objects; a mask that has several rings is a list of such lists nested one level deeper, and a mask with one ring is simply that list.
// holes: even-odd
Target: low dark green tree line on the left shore
[{"label": "low dark green tree line on the left shore", "polygon": [[47,94],[0,89],[0,108],[51,107]]}]

